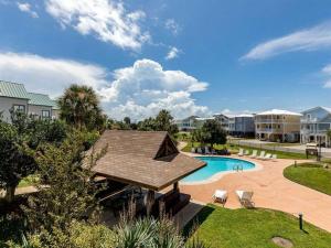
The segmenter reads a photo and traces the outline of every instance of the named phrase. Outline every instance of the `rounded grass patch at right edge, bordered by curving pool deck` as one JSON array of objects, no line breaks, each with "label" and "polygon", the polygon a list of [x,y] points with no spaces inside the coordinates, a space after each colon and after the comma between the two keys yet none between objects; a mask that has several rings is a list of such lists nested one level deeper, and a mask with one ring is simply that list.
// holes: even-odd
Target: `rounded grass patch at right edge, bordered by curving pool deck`
[{"label": "rounded grass patch at right edge, bordered by curving pool deck", "polygon": [[284,170],[284,176],[301,185],[331,195],[331,169],[324,169],[320,163],[302,163],[297,166],[288,166]]}]

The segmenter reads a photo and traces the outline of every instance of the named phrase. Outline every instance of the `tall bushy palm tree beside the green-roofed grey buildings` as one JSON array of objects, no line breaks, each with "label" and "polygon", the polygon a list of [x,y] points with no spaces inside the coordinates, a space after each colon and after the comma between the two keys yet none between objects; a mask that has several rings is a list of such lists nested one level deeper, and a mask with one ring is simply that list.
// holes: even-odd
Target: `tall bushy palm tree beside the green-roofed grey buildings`
[{"label": "tall bushy palm tree beside the green-roofed grey buildings", "polygon": [[72,85],[58,99],[60,117],[76,128],[103,129],[106,117],[102,114],[99,99],[92,87]]}]

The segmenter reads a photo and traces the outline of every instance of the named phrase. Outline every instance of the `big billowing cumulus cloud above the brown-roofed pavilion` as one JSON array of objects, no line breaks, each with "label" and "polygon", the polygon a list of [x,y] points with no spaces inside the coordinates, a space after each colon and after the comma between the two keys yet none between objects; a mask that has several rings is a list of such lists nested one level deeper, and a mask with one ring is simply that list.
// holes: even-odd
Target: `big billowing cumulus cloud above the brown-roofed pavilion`
[{"label": "big billowing cumulus cloud above the brown-roofed pavilion", "polygon": [[209,111],[192,98],[192,93],[205,90],[207,84],[181,71],[164,71],[154,61],[141,60],[114,75],[111,86],[103,94],[113,117],[141,119],[162,108],[177,118]]}]

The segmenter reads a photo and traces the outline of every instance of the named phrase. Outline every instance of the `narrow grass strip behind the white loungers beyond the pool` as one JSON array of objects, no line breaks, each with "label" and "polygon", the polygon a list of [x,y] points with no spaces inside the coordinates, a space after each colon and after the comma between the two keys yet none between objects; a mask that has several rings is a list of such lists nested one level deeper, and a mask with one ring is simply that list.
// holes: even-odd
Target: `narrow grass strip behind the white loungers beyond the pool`
[{"label": "narrow grass strip behind the white loungers beyond the pool", "polygon": [[[200,147],[199,142],[194,142],[194,147]],[[191,152],[191,148],[192,144],[191,142],[188,142],[188,145],[185,148],[182,149],[182,151],[184,152]],[[277,158],[279,159],[293,159],[293,160],[303,160],[307,159],[306,154],[300,154],[300,153],[293,153],[293,152],[282,152],[282,151],[275,151],[275,150],[266,150],[266,149],[258,149],[258,148],[250,148],[250,147],[246,147],[246,145],[237,145],[237,144],[220,144],[220,145],[215,145],[215,149],[223,149],[223,148],[227,148],[227,150],[229,150],[231,153],[238,153],[239,148],[243,148],[245,150],[248,150],[249,153],[252,154],[253,150],[257,150],[258,152],[260,151],[266,151],[267,153],[273,153],[273,154],[277,154]]]}]

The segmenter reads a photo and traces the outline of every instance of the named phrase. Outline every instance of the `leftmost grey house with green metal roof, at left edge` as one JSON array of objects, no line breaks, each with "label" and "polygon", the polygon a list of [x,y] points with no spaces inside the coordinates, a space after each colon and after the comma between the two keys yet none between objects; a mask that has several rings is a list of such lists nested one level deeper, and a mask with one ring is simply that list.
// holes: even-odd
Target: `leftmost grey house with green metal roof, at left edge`
[{"label": "leftmost grey house with green metal roof, at left edge", "polygon": [[30,96],[24,85],[0,80],[0,114],[2,120],[10,122],[10,110],[28,114]]}]

